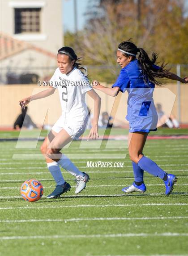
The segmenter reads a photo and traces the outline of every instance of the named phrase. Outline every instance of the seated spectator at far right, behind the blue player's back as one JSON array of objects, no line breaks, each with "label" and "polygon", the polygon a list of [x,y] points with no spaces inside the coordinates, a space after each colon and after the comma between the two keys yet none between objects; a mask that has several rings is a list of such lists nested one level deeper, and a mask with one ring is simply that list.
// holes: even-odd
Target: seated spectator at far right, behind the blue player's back
[{"label": "seated spectator at far right, behind the blue player's back", "polygon": [[157,110],[157,114],[158,114],[158,124],[157,126],[167,126],[169,128],[179,128],[179,122],[177,119],[175,119],[175,116],[170,115],[170,117],[168,117],[162,110],[162,105],[160,103],[158,103],[156,105],[156,110]]}]

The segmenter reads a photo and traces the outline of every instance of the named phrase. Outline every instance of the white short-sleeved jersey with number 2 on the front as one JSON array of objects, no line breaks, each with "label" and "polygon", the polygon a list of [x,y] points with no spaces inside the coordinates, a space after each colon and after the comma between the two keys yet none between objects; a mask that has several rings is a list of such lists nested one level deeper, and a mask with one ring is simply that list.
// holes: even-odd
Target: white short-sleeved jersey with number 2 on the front
[{"label": "white short-sleeved jersey with number 2 on the front", "polygon": [[88,78],[76,67],[68,75],[62,74],[58,67],[50,84],[59,91],[64,121],[74,118],[84,121],[88,115],[85,93],[92,90]]}]

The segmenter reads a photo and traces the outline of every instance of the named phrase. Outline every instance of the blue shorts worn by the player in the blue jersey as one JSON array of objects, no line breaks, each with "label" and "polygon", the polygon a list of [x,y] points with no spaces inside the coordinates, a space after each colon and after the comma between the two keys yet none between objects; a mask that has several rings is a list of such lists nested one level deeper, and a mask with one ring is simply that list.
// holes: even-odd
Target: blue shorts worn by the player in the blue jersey
[{"label": "blue shorts worn by the player in the blue jersey", "polygon": [[149,133],[151,130],[157,130],[157,123],[158,116],[129,121],[129,132],[142,131]]}]

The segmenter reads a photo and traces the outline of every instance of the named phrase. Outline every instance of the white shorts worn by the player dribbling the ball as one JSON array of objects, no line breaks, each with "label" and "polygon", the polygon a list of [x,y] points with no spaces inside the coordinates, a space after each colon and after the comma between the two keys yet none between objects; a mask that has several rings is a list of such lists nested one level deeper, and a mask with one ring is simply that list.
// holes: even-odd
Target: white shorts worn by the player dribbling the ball
[{"label": "white shorts worn by the player dribbling the ball", "polygon": [[71,121],[65,121],[64,117],[60,117],[51,130],[59,133],[60,130],[64,129],[70,135],[72,139],[79,139],[79,137],[85,132],[87,126],[88,116],[85,117],[85,120],[80,118],[73,118]]}]

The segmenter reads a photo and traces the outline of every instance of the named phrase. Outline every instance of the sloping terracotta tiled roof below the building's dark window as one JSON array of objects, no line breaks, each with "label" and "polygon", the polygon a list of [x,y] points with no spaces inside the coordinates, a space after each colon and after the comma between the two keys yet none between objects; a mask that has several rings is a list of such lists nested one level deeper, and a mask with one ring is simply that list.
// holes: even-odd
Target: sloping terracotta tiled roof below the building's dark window
[{"label": "sloping terracotta tiled roof below the building's dark window", "polygon": [[14,54],[18,54],[27,49],[38,51],[41,54],[47,55],[50,58],[56,58],[56,54],[36,47],[35,45],[29,44],[25,41],[17,40],[12,36],[0,32],[0,60],[9,58]]}]

